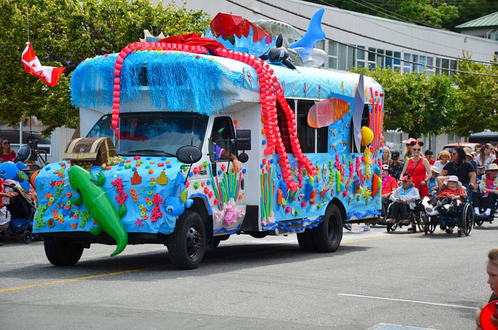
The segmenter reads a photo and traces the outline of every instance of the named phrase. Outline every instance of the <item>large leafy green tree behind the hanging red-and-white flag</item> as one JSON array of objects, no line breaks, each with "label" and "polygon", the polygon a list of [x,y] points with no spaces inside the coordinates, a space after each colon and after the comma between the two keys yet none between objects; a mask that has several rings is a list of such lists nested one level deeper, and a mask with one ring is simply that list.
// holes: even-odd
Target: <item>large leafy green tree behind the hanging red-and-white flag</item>
[{"label": "large leafy green tree behind the hanging red-and-white flag", "polygon": [[[28,3],[28,4],[27,4]],[[24,72],[20,56],[29,41],[43,65],[66,66],[55,87]],[[2,0],[0,121],[11,125],[36,116],[50,134],[55,128],[76,127],[78,109],[69,100],[72,71],[85,58],[119,52],[138,41],[142,31],[165,35],[203,33],[210,17],[174,2],[163,7],[150,0]]]}]

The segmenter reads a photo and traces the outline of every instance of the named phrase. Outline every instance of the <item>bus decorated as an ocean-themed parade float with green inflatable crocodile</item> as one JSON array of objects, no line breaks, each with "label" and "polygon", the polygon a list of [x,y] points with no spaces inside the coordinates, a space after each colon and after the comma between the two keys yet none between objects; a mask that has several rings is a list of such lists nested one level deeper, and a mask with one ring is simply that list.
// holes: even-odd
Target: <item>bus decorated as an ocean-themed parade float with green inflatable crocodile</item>
[{"label": "bus decorated as an ocean-themed parade float with green inflatable crocodile", "polygon": [[160,243],[192,269],[233,234],[296,233],[303,250],[334,252],[343,224],[375,222],[383,90],[319,68],[322,15],[301,37],[220,13],[204,37],[149,36],[82,62],[84,138],[34,180],[48,260]]}]

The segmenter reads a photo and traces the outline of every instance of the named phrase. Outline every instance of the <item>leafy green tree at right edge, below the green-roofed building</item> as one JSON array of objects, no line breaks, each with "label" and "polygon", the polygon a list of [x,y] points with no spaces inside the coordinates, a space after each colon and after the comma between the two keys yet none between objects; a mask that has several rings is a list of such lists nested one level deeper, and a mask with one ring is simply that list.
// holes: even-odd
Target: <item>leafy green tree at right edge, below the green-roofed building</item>
[{"label": "leafy green tree at right edge, below the green-roofed building", "polygon": [[[465,57],[470,58],[469,55]],[[481,63],[459,61],[458,69],[483,74],[498,75],[497,58],[494,64],[485,66]],[[462,107],[456,117],[456,125],[451,131],[460,136],[482,132],[485,129],[498,131],[498,78],[495,76],[455,74],[457,93],[462,100]]]}]

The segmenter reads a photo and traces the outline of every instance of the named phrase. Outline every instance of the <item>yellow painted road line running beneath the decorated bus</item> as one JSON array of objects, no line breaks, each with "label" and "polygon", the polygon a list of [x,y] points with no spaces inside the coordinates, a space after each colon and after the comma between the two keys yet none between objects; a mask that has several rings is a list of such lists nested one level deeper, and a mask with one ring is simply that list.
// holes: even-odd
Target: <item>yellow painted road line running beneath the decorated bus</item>
[{"label": "yellow painted road line running beneath the decorated bus", "polygon": [[[350,243],[373,241],[373,240],[378,240],[378,239],[387,239],[387,238],[396,238],[396,237],[406,237],[406,236],[421,235],[421,234],[422,233],[414,233],[414,234],[404,234],[404,235],[396,235],[396,236],[382,236],[382,237],[372,237],[372,238],[360,238],[360,239],[354,239],[354,240],[351,240],[351,241],[341,242],[341,244],[350,244]],[[259,253],[261,253],[261,252],[251,252],[251,253],[247,253],[247,254],[244,254],[244,255],[237,255],[235,257],[240,258],[240,257],[255,255],[255,254],[259,254]],[[215,258],[215,259],[227,259],[227,258],[230,258],[230,257],[221,257],[221,258]],[[103,273],[103,274],[96,274],[96,275],[89,275],[89,276],[74,277],[74,278],[64,279],[64,280],[56,280],[56,281],[50,281],[50,282],[35,283],[35,284],[24,285],[24,286],[21,286],[21,287],[14,287],[14,288],[8,288],[8,289],[0,289],[0,293],[9,292],[9,291],[23,290],[23,289],[29,289],[29,288],[34,288],[34,287],[41,287],[41,286],[52,285],[52,284],[60,284],[60,283],[73,282],[73,281],[81,281],[81,280],[91,280],[91,279],[95,279],[95,278],[99,278],[99,277],[106,277],[106,276],[114,276],[114,275],[121,275],[121,274],[136,273],[136,272],[142,272],[142,271],[147,271],[147,270],[164,268],[164,267],[167,267],[167,266],[171,267],[172,265],[171,264],[167,264],[167,265],[162,265],[162,266],[137,268],[137,269],[123,270],[123,271],[119,271],[119,272]]]}]

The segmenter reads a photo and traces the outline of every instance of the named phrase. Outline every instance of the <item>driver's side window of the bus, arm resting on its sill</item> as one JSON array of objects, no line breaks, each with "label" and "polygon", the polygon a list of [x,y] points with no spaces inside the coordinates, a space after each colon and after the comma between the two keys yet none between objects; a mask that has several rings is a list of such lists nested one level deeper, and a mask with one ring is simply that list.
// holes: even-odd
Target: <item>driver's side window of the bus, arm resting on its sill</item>
[{"label": "driver's side window of the bus, arm resting on its sill", "polygon": [[[224,149],[234,155],[236,154],[235,145],[230,143],[229,141],[219,141],[219,140],[228,140],[235,139],[235,131],[234,125],[232,124],[232,119],[230,117],[217,117],[213,123],[213,130],[210,135],[210,159],[211,162],[215,162],[215,160],[228,161],[230,158],[222,155],[220,153],[221,149]],[[214,147],[214,143],[219,148]],[[215,156],[216,153],[216,156]]]}]

